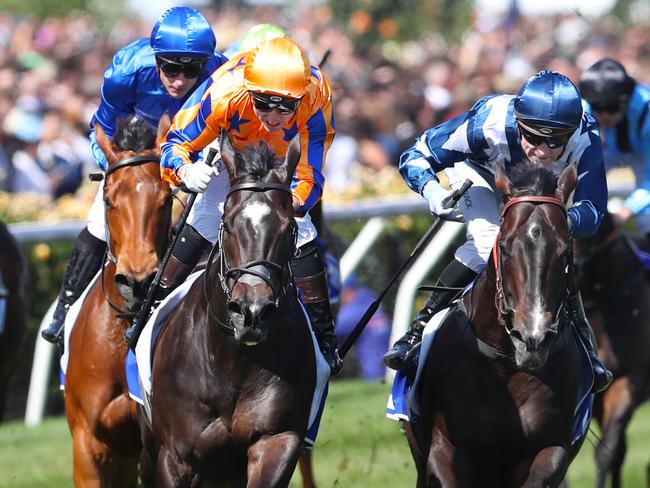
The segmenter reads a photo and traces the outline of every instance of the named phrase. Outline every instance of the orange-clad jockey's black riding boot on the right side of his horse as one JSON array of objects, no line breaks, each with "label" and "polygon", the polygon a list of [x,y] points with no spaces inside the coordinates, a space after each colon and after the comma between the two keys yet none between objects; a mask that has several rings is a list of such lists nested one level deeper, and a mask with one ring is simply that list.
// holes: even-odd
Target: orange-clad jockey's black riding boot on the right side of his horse
[{"label": "orange-clad jockey's black riding boot on the right side of his horse", "polygon": [[325,265],[316,244],[310,242],[298,250],[298,255],[291,261],[291,271],[311,319],[318,346],[330,371],[336,375],[341,371],[343,362],[337,349]]}]

